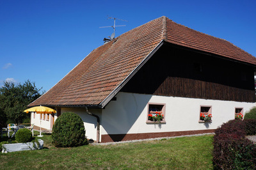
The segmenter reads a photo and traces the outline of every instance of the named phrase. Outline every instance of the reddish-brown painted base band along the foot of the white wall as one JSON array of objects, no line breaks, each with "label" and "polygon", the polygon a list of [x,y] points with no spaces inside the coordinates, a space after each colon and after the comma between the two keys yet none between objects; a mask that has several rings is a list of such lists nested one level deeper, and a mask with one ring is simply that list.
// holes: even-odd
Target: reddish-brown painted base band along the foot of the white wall
[{"label": "reddish-brown painted base band along the foot of the white wall", "polygon": [[157,137],[173,137],[180,135],[195,135],[195,134],[207,134],[214,132],[215,129],[207,130],[188,130],[179,132],[158,132],[158,133],[142,133],[142,134],[107,134],[101,135],[102,143],[111,143],[118,141],[132,141],[138,139],[150,139]]}]

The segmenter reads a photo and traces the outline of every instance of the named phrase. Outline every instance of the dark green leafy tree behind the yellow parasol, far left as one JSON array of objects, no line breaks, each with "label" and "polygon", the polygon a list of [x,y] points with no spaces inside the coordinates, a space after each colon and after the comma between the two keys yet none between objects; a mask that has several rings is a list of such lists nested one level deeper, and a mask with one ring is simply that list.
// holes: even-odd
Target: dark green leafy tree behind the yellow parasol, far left
[{"label": "dark green leafy tree behind the yellow parasol, far left", "polygon": [[36,88],[35,82],[29,80],[17,85],[5,81],[3,87],[0,88],[0,115],[7,118],[4,124],[28,121],[30,114],[23,111],[27,109],[28,104],[42,95],[41,89]]}]

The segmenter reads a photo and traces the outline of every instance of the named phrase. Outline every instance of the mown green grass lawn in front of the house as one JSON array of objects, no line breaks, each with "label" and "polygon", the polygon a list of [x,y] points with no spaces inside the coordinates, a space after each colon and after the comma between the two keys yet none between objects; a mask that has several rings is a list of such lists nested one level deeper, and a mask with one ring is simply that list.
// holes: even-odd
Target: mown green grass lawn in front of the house
[{"label": "mown green grass lawn in front of the house", "polygon": [[212,137],[55,148],[44,134],[44,150],[0,153],[0,169],[212,169]]}]

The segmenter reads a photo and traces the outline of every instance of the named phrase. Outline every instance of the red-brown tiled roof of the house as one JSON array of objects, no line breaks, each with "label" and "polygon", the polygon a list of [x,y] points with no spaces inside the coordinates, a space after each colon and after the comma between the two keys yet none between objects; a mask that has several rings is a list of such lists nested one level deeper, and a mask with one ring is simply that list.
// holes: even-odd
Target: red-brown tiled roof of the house
[{"label": "red-brown tiled roof of the house", "polygon": [[[148,56],[169,42],[256,65],[256,59],[226,40],[160,17],[93,50],[60,82],[31,104],[104,107]],[[107,100],[108,99],[108,100]],[[104,103],[105,102],[105,103]]]}]

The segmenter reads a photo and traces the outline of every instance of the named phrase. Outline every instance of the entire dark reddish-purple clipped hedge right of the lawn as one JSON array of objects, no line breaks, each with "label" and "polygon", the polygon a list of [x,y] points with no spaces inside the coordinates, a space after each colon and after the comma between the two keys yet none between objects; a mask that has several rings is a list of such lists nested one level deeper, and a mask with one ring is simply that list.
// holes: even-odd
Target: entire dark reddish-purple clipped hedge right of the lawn
[{"label": "entire dark reddish-purple clipped hedge right of the lawn", "polygon": [[214,169],[256,169],[256,145],[245,138],[246,123],[231,120],[216,129]]}]

